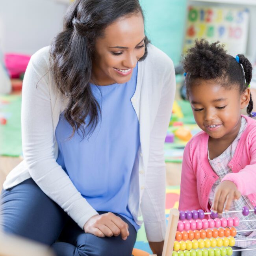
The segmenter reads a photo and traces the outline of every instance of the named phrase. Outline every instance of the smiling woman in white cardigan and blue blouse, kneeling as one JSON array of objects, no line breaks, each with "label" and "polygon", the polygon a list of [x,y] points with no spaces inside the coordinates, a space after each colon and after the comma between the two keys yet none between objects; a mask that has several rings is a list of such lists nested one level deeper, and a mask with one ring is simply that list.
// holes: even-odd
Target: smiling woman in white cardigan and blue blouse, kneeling
[{"label": "smiling woman in white cardigan and blue blouse, kneeling", "polygon": [[4,183],[4,230],[61,256],[130,256],[142,213],[160,255],[174,91],[173,63],[148,43],[138,0],[74,1],[26,70],[24,161]]}]

